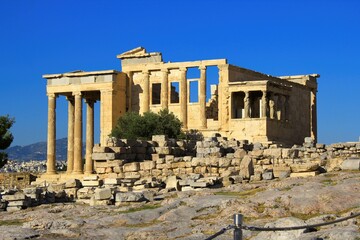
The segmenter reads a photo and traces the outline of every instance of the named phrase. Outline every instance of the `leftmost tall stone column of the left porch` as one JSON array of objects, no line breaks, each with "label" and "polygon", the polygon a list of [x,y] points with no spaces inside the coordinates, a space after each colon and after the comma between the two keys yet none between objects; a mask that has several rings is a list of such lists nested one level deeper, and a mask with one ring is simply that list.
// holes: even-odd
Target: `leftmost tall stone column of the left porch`
[{"label": "leftmost tall stone column of the left porch", "polygon": [[56,95],[48,94],[48,136],[46,173],[56,173]]}]

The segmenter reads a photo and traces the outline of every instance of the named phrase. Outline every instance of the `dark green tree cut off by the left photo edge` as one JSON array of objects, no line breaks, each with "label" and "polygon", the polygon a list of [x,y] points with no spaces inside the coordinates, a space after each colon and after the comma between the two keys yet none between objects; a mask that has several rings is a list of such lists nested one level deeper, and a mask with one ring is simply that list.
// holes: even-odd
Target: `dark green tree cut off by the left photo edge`
[{"label": "dark green tree cut off by the left photo edge", "polygon": [[[14,123],[14,118],[10,118],[8,115],[0,116],[0,150],[5,150],[12,143],[14,137],[9,129]],[[5,152],[0,152],[0,168],[2,168],[6,163],[7,154]]]}]

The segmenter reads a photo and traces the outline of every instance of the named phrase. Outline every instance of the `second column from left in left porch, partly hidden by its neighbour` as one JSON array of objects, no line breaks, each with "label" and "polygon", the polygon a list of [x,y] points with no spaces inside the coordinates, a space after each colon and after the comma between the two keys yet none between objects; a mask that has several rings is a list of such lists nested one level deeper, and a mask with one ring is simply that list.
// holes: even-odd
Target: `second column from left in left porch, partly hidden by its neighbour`
[{"label": "second column from left in left porch, partly hidden by its neighbour", "polygon": [[68,151],[67,151],[67,173],[74,169],[74,98],[68,100]]}]

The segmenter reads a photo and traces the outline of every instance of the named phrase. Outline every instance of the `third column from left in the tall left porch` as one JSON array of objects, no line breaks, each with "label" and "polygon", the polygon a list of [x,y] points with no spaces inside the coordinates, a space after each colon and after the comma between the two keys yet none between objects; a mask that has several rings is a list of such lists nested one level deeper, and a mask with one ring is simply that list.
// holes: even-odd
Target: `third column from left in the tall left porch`
[{"label": "third column from left in the tall left porch", "polygon": [[83,173],[82,164],[82,98],[81,92],[75,96],[75,126],[74,126],[74,169],[73,173]]}]

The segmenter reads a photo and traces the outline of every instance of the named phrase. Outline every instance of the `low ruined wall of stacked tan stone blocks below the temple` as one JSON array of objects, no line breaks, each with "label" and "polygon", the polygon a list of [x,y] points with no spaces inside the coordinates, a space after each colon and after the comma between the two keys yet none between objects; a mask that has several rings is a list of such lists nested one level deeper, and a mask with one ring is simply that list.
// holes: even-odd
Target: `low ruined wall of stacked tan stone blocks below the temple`
[{"label": "low ruined wall of stacked tan stone blocks below the temple", "polygon": [[109,139],[107,147],[94,147],[97,174],[140,179],[200,174],[203,177],[262,180],[314,176],[340,170],[347,158],[360,157],[360,143],[325,146],[306,138],[303,145],[248,143],[215,135],[202,141],[175,141],[154,136],[152,141]]}]

